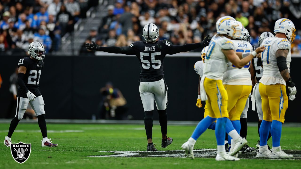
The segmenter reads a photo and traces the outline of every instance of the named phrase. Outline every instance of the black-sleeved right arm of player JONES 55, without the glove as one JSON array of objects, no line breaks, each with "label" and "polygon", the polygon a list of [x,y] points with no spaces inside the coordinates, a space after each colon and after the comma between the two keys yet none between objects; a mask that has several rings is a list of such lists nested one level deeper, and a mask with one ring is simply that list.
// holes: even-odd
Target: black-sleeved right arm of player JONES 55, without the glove
[{"label": "black-sleeved right arm of player JONES 55, without the glove", "polygon": [[203,42],[199,43],[190,43],[190,44],[185,44],[185,45],[172,45],[167,54],[177,54],[180,52],[187,52],[187,51],[192,51],[197,48],[205,48],[206,45],[204,45]]}]

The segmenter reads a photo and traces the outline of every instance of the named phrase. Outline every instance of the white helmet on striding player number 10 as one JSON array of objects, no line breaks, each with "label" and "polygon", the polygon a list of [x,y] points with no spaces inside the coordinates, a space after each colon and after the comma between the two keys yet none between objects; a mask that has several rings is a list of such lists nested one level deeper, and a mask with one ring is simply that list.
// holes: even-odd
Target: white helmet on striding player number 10
[{"label": "white helmet on striding player number 10", "polygon": [[238,26],[238,22],[235,20],[231,20],[231,19],[224,20],[219,24],[217,33],[225,34],[232,38],[235,38],[237,26]]}]

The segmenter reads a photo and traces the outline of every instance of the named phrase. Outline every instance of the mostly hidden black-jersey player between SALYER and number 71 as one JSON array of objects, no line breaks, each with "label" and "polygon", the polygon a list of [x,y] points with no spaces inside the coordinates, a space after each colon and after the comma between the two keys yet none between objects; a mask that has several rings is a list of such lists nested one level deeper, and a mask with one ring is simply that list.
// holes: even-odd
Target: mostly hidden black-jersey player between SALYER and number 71
[{"label": "mostly hidden black-jersey player between SALYER and number 71", "polygon": [[[265,38],[269,38],[269,37],[274,37],[274,35],[271,32],[263,32],[259,38],[258,38],[258,45],[261,46],[262,41]],[[254,58],[252,65],[251,65],[251,69],[253,69],[253,78],[254,78],[254,82],[255,85],[253,87],[253,93],[252,93],[252,110],[255,111],[257,110],[257,114],[258,114],[258,135],[259,135],[259,128],[262,122],[262,118],[263,118],[263,113],[262,113],[262,108],[261,108],[261,96],[259,93],[259,80],[262,77],[263,74],[263,69],[262,69],[262,61],[261,59],[258,58]],[[256,107],[256,108],[255,108]],[[268,135],[268,140],[271,138],[271,132],[269,132]],[[258,140],[258,144],[256,145],[256,148],[259,149],[259,143],[260,141]]]}]

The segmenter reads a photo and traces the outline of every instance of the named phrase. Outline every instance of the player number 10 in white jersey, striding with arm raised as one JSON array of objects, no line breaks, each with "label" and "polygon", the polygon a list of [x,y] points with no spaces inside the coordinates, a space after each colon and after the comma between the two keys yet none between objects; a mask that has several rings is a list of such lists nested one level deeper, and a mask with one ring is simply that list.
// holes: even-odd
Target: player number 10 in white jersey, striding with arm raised
[{"label": "player number 10 in white jersey, striding with arm raised", "polygon": [[[237,131],[233,128],[230,120],[228,119],[228,94],[222,85],[223,74],[227,68],[227,62],[230,60],[238,68],[245,66],[252,60],[258,53],[262,52],[263,48],[257,48],[256,51],[252,53],[239,53],[239,56],[234,52],[233,42],[231,38],[235,36],[238,32],[236,27],[238,23],[232,17],[224,17],[216,22],[217,35],[215,35],[209,44],[209,49],[206,54],[206,64],[203,70],[203,79],[201,79],[200,90],[203,100],[207,100],[208,116],[203,118],[197,125],[196,130],[198,132],[193,133],[187,142],[182,145],[182,149],[185,149],[185,155],[188,157],[193,157],[193,147],[196,139],[216,120],[216,140],[217,140],[217,161],[237,161],[239,158],[233,157],[231,155],[236,155],[238,151],[247,144],[247,140],[241,138]],[[241,32],[239,32],[241,33]],[[227,133],[231,135],[234,139],[234,146],[232,146],[232,152],[229,154],[225,152],[224,138],[226,132],[226,123],[229,121],[229,126],[227,125]]]}]

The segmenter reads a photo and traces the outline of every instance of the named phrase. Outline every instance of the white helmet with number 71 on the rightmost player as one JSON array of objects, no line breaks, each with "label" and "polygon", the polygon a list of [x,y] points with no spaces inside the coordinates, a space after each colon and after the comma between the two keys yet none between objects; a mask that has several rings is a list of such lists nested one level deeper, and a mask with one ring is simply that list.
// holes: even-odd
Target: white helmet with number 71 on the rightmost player
[{"label": "white helmet with number 71 on the rightmost player", "polygon": [[284,33],[290,43],[292,43],[296,37],[295,31],[294,23],[287,18],[281,18],[275,22],[274,33]]}]

